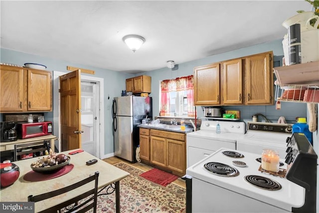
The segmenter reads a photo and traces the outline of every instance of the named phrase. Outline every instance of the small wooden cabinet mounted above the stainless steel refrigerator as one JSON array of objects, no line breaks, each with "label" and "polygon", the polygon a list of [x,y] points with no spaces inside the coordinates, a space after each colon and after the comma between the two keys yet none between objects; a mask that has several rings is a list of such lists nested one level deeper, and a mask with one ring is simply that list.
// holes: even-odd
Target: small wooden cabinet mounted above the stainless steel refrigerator
[{"label": "small wooden cabinet mounted above the stainless steel refrigerator", "polygon": [[126,79],[126,91],[133,93],[151,93],[151,76],[141,75]]}]

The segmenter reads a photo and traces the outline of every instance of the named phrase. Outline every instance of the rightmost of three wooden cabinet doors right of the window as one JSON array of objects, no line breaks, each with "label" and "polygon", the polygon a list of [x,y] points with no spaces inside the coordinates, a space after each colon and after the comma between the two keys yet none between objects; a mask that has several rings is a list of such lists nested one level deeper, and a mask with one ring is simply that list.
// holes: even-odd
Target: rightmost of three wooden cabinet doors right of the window
[{"label": "rightmost of three wooden cabinet doors right of the window", "polygon": [[273,53],[267,52],[246,58],[246,104],[273,104]]}]

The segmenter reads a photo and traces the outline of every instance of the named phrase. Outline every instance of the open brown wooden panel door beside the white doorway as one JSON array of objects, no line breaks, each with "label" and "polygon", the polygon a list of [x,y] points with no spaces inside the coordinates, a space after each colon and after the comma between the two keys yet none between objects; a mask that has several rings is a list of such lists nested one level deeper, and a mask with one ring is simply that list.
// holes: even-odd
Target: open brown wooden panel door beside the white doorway
[{"label": "open brown wooden panel door beside the white doorway", "polygon": [[81,71],[60,76],[61,150],[81,148]]}]

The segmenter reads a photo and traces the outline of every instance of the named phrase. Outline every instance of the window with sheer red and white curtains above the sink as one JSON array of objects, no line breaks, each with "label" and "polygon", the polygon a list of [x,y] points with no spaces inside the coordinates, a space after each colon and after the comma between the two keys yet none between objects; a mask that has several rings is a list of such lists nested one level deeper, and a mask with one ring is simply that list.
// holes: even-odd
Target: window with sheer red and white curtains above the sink
[{"label": "window with sheer red and white curtains above the sink", "polygon": [[160,116],[195,116],[193,76],[160,82]]}]

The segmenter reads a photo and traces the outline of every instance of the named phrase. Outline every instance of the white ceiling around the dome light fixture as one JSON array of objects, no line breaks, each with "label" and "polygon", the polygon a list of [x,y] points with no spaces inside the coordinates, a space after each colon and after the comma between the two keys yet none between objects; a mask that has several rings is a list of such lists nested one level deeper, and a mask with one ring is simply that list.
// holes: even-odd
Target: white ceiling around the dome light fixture
[{"label": "white ceiling around the dome light fixture", "polygon": [[[282,22],[312,9],[304,0],[0,3],[1,48],[128,73],[283,38]],[[133,53],[127,34],[146,42]]]}]

